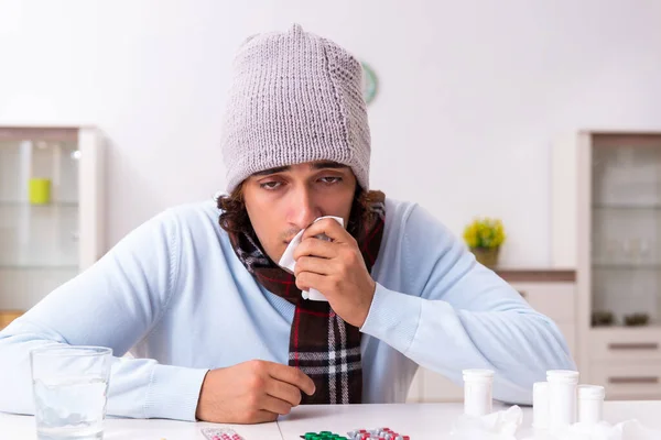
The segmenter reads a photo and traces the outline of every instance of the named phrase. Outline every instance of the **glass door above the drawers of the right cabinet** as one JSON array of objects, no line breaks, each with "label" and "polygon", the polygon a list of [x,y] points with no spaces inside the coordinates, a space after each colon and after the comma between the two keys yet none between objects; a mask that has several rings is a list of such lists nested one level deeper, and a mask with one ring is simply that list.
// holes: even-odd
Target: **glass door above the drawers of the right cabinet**
[{"label": "glass door above the drawers of the right cabinet", "polygon": [[[590,151],[590,314],[661,322],[661,134],[595,134]],[[588,274],[586,274],[587,276]]]}]

